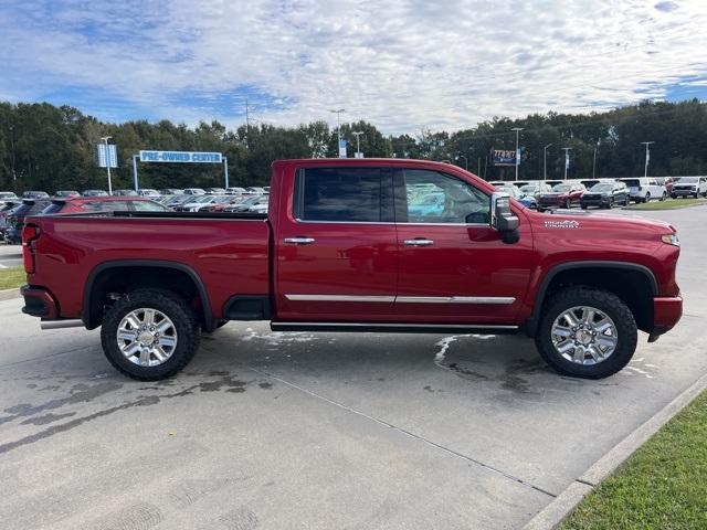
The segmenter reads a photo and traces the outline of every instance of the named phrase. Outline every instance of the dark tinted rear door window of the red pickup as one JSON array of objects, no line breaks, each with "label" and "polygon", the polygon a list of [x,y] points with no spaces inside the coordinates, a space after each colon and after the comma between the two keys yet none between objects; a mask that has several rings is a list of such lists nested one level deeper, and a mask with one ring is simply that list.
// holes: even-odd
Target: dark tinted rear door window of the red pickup
[{"label": "dark tinted rear door window of the red pickup", "polygon": [[312,168],[300,170],[295,184],[295,218],[321,222],[383,220],[380,168]]}]

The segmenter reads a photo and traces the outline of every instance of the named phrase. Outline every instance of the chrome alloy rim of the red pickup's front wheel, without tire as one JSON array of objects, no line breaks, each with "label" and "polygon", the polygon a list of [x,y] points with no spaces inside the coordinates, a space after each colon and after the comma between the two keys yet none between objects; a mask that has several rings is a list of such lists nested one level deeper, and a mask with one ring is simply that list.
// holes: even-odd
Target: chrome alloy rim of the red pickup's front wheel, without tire
[{"label": "chrome alloy rim of the red pickup's front wheel, without tire", "polygon": [[552,322],[552,346],[568,361],[598,364],[616,349],[616,326],[609,316],[594,307],[567,309]]}]

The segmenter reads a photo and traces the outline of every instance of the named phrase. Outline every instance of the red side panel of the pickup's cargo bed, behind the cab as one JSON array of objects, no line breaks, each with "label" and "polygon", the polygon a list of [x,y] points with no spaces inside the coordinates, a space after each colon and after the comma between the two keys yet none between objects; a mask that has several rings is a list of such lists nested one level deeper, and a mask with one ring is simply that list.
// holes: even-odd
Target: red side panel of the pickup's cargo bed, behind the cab
[{"label": "red side panel of the pickup's cargo bed, behind the cab", "polygon": [[270,290],[270,224],[264,214],[114,212],[40,215],[28,222],[42,233],[29,284],[41,276],[43,285],[52,286],[62,300],[62,318],[81,318],[91,289],[86,278],[118,262],[135,267],[169,262],[190,269],[208,293],[214,319],[221,318],[231,296]]}]

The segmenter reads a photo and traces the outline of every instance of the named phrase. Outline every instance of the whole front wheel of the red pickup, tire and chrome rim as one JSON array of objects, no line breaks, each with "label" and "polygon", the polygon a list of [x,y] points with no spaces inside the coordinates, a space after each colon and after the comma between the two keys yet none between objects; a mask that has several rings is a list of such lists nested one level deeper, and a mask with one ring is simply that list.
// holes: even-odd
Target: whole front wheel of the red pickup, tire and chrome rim
[{"label": "whole front wheel of the red pickup, tire and chrome rim", "polygon": [[633,314],[621,298],[592,287],[570,287],[548,300],[535,342],[557,372],[602,379],[629,363],[637,338]]}]

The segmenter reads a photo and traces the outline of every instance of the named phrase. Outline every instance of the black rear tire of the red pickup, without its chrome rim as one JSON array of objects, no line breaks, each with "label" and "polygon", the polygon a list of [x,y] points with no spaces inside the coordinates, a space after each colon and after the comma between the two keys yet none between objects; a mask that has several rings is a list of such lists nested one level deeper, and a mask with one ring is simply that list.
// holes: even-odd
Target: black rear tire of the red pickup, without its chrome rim
[{"label": "black rear tire of the red pickup, without its chrome rim", "polygon": [[[157,309],[173,322],[177,346],[161,364],[143,367],[131,362],[118,347],[117,331],[120,320],[139,308]],[[106,311],[101,328],[103,351],[120,373],[139,381],[167,379],[183,369],[199,349],[201,326],[197,315],[179,295],[160,289],[137,289],[113,304]]]}]

